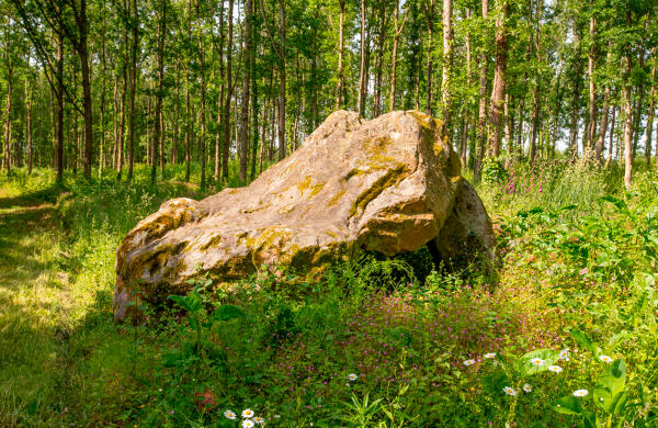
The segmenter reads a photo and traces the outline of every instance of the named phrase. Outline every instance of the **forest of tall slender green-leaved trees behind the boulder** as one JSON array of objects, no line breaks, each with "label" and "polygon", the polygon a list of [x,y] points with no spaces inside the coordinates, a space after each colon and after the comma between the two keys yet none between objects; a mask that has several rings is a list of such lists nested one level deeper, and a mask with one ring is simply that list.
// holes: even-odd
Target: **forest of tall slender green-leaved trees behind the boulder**
[{"label": "forest of tall slender green-leaved trees behind the boulder", "polygon": [[442,119],[463,164],[651,162],[649,0],[2,0],[2,168],[282,159],[332,111]]}]

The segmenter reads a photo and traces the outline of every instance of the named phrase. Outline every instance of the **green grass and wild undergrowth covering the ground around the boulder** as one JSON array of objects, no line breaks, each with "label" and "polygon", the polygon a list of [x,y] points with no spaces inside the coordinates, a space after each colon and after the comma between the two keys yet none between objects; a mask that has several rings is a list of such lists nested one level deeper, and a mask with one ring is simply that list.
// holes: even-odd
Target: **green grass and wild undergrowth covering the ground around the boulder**
[{"label": "green grass and wild undergrowth covering the ground around the boulder", "polygon": [[[478,188],[497,280],[432,267],[421,250],[352,260],[294,293],[276,278],[231,295],[200,280],[136,327],[112,322],[115,250],[161,202],[203,198],[182,168],[156,187],[144,166],[133,183],[0,178],[0,426],[237,427],[245,408],[281,427],[560,427],[590,413],[599,426],[655,426],[656,177],[625,194],[615,170],[511,171]],[[578,388],[591,398],[606,368],[572,331],[628,367],[620,413],[587,398],[555,407]],[[557,360],[565,348],[570,360]],[[523,369],[538,350],[564,371]],[[502,391],[524,383],[532,393]]]}]

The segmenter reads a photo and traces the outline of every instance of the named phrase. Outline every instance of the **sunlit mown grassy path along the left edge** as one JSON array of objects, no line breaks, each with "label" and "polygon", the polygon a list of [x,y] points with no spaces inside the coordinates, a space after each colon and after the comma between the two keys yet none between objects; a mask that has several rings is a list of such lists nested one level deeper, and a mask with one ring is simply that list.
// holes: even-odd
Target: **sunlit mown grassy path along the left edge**
[{"label": "sunlit mown grassy path along the left edge", "polygon": [[61,269],[65,237],[48,189],[12,194],[0,189],[0,425],[35,414],[61,356],[70,307]]}]

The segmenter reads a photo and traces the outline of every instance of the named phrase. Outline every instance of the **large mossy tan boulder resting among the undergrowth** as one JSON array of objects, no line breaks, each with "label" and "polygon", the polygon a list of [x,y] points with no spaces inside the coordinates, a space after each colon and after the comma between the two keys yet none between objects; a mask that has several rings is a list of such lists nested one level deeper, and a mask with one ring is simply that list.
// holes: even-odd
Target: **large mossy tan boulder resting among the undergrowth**
[{"label": "large mossy tan boulder resting among the undergrowth", "polygon": [[249,187],[174,199],[139,222],[116,251],[115,320],[140,299],[186,293],[188,280],[205,273],[227,286],[262,266],[317,278],[362,250],[490,251],[491,224],[460,173],[440,121],[416,111],[372,121],[332,113]]}]

